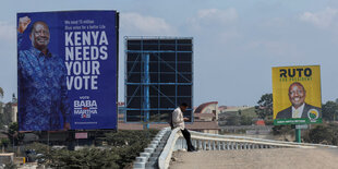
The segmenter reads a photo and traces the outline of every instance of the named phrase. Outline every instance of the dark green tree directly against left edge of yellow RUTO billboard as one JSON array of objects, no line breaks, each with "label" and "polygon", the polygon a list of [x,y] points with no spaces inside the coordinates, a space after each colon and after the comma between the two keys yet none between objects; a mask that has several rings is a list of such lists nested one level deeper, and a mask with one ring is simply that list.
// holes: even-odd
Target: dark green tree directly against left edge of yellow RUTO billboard
[{"label": "dark green tree directly against left edge of yellow RUTO billboard", "polygon": [[258,105],[255,106],[255,112],[257,113],[258,118],[263,120],[266,120],[267,118],[271,119],[271,116],[274,113],[273,94],[263,95],[257,104]]}]

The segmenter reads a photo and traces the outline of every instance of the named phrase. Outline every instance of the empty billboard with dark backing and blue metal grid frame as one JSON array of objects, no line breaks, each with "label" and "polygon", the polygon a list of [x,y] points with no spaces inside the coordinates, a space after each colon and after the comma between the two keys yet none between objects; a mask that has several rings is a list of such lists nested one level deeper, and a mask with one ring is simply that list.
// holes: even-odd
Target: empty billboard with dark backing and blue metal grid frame
[{"label": "empty billboard with dark backing and blue metal grid frame", "polygon": [[193,120],[193,38],[124,37],[125,121],[167,122],[182,102]]}]

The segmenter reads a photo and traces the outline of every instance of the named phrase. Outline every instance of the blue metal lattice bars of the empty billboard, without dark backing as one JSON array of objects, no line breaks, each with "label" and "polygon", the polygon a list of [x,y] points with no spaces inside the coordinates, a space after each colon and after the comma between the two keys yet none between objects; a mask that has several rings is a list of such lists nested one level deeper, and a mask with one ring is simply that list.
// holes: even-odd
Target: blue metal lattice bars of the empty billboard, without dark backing
[{"label": "blue metal lattice bars of the empty billboard, without dark backing", "polygon": [[[128,40],[131,39],[131,40],[141,40],[141,50],[128,50]],[[158,45],[158,50],[143,50],[143,43],[144,40],[147,40],[147,39],[170,39],[170,40],[176,40],[174,44],[170,44],[170,45],[174,45],[174,48],[176,50],[160,50],[159,47],[160,45]],[[182,86],[182,85],[189,85],[189,86],[192,86],[192,94],[191,94],[191,108],[189,108],[188,110],[191,111],[191,117],[192,117],[192,122],[194,121],[194,117],[193,117],[193,67],[192,67],[192,72],[191,73],[182,73],[182,72],[178,72],[178,63],[191,63],[193,65],[193,51],[178,51],[178,40],[179,39],[191,39],[193,40],[192,37],[124,37],[124,46],[125,46],[125,76],[124,76],[124,84],[125,86],[126,85],[136,85],[137,88],[135,89],[135,92],[133,93],[132,96],[128,96],[126,95],[126,87],[124,88],[124,97],[125,97],[125,101],[128,100],[126,97],[131,97],[131,99],[129,100],[129,102],[125,102],[125,116],[124,116],[124,121],[126,123],[140,123],[140,122],[128,122],[126,121],[126,111],[128,110],[138,110],[141,111],[141,117],[140,116],[135,116],[135,117],[140,117],[141,119],[144,120],[144,129],[145,128],[149,128],[149,111],[152,110],[157,110],[157,111],[161,111],[161,110],[174,110],[174,108],[179,107],[179,105],[177,105],[178,102],[178,86]],[[162,45],[162,44],[161,44]],[[193,50],[193,41],[192,41],[192,50]],[[174,57],[176,57],[176,61],[165,61],[161,59],[160,57],[160,53],[174,53]],[[128,53],[138,53],[137,55],[137,58],[135,61],[128,61]],[[192,53],[192,60],[191,62],[190,61],[178,61],[178,53]],[[149,58],[150,58],[150,55],[152,56],[156,56],[158,58],[157,61],[149,61]],[[140,57],[141,57],[141,71],[142,72],[134,72],[134,68],[136,65],[137,62],[140,62]],[[138,60],[138,61],[137,61]],[[150,82],[150,79],[149,79],[149,75],[150,74],[154,74],[156,72],[149,72],[149,63],[152,62],[158,62],[158,71],[157,71],[157,75],[158,75],[158,80],[160,82],[160,74],[166,74],[166,72],[161,72],[160,70],[160,64],[159,63],[165,63],[168,68],[172,69],[174,71],[174,73],[172,72],[168,72],[167,74],[174,74],[174,83],[152,83]],[[131,68],[131,71],[128,72],[128,64],[126,63],[133,63],[132,64],[132,68]],[[169,63],[174,63],[174,68],[171,67]],[[129,83],[128,82],[128,77],[130,77],[130,75],[132,73],[141,73],[141,83]],[[184,75],[185,74],[191,74],[191,81],[189,81]],[[190,82],[190,83],[178,83],[178,77],[182,77],[184,79],[186,82]],[[167,96],[165,95],[162,92],[160,92],[160,85],[174,85],[176,87],[176,94],[174,96]],[[157,101],[157,106],[158,108],[150,108],[150,101],[149,101],[149,88],[155,88],[158,93],[157,93],[157,97],[158,98],[161,98],[161,97],[165,97],[167,98],[171,104],[174,105],[174,108],[159,108],[160,106],[160,99],[158,99]],[[138,90],[142,90],[142,95],[141,95],[141,108],[140,109],[135,109],[135,108],[128,108],[129,104],[131,102],[131,100],[137,96],[135,96],[135,94],[138,92]],[[153,96],[152,96],[153,97]],[[174,100],[171,100],[170,97],[174,97]],[[181,98],[183,97],[190,97],[190,96],[179,96]],[[166,122],[160,122],[160,120],[158,122],[150,122],[150,123],[166,123]]]}]

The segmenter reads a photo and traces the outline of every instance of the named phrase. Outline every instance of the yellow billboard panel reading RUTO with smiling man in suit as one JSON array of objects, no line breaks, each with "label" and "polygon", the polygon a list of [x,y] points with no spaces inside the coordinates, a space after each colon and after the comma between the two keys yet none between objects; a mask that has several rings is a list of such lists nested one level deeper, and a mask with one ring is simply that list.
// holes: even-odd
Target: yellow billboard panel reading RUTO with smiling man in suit
[{"label": "yellow billboard panel reading RUTO with smiling man in suit", "polygon": [[274,124],[322,123],[321,67],[273,68]]}]

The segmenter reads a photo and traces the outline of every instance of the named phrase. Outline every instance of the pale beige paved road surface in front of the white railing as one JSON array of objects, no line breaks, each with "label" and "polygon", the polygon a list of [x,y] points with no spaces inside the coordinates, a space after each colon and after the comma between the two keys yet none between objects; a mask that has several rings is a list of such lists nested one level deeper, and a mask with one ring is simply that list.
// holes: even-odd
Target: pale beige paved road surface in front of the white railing
[{"label": "pale beige paved road surface in front of the white railing", "polygon": [[170,169],[338,169],[338,149],[177,152]]}]

